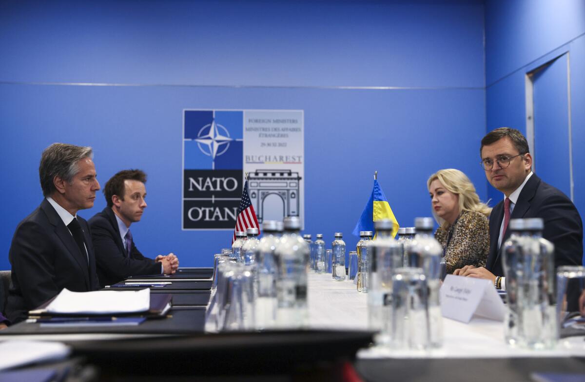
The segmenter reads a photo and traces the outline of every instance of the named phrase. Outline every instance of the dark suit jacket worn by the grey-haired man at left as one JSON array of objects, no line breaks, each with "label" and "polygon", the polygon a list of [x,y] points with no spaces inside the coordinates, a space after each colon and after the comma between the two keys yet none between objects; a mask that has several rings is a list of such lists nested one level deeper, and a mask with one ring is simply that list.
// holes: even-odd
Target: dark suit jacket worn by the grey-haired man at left
[{"label": "dark suit jacket worn by the grey-haired man at left", "polygon": [[87,255],[81,253],[47,199],[16,227],[9,251],[12,274],[6,304],[6,315],[12,323],[26,319],[28,311],[63,288],[74,292],[99,288],[90,227],[80,216],[77,220],[84,231]]}]

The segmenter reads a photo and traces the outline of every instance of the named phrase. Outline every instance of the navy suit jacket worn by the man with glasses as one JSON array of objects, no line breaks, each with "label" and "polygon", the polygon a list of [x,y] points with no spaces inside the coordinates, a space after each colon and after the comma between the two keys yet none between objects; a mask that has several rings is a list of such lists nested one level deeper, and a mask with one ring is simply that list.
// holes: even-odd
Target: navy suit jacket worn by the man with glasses
[{"label": "navy suit jacket worn by the man with glasses", "polygon": [[[544,220],[542,237],[555,244],[555,268],[561,265],[581,265],[583,261],[583,222],[573,202],[559,189],[543,182],[535,173],[524,185],[510,219],[540,217]],[[498,248],[498,236],[504,219],[504,200],[490,215],[490,254],[486,268],[496,276],[503,276],[501,253],[503,243],[510,237],[506,230]]]}]

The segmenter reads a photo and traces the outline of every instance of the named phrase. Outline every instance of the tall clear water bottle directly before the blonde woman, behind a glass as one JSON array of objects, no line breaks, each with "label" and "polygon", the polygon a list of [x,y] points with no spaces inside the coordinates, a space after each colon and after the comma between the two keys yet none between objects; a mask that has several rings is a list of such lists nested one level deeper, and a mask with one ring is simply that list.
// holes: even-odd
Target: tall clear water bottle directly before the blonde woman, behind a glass
[{"label": "tall clear water bottle directly before the blonde woman, behind a glass", "polygon": [[414,220],[417,234],[408,249],[410,267],[422,268],[428,285],[429,337],[432,347],[443,345],[443,321],[439,288],[441,287],[443,248],[433,236],[435,221],[432,217]]}]

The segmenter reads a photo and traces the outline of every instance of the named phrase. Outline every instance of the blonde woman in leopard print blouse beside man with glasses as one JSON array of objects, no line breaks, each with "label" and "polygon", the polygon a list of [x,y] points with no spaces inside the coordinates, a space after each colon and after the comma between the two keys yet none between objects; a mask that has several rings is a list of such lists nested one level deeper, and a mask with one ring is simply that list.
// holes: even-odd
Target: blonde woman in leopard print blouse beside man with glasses
[{"label": "blonde woman in leopard print blouse beside man with glasses", "polygon": [[490,251],[491,208],[480,202],[473,183],[459,170],[439,170],[426,186],[439,223],[435,238],[443,247],[447,273],[469,264],[484,267]]}]

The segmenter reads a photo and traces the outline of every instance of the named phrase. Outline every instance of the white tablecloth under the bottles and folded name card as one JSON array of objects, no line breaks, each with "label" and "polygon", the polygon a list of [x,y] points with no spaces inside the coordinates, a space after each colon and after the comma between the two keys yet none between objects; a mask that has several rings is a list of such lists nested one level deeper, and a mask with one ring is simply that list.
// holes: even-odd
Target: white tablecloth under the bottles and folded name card
[{"label": "white tablecloth under the bottles and folded name card", "polygon": [[[351,281],[333,281],[331,274],[309,274],[309,323],[315,329],[367,330],[367,294],[357,292]],[[444,342],[429,352],[397,352],[384,348],[364,349],[361,358],[425,357],[585,357],[585,338],[561,340],[555,350],[524,350],[504,343],[503,323],[474,317],[465,324],[443,318]]]}]

